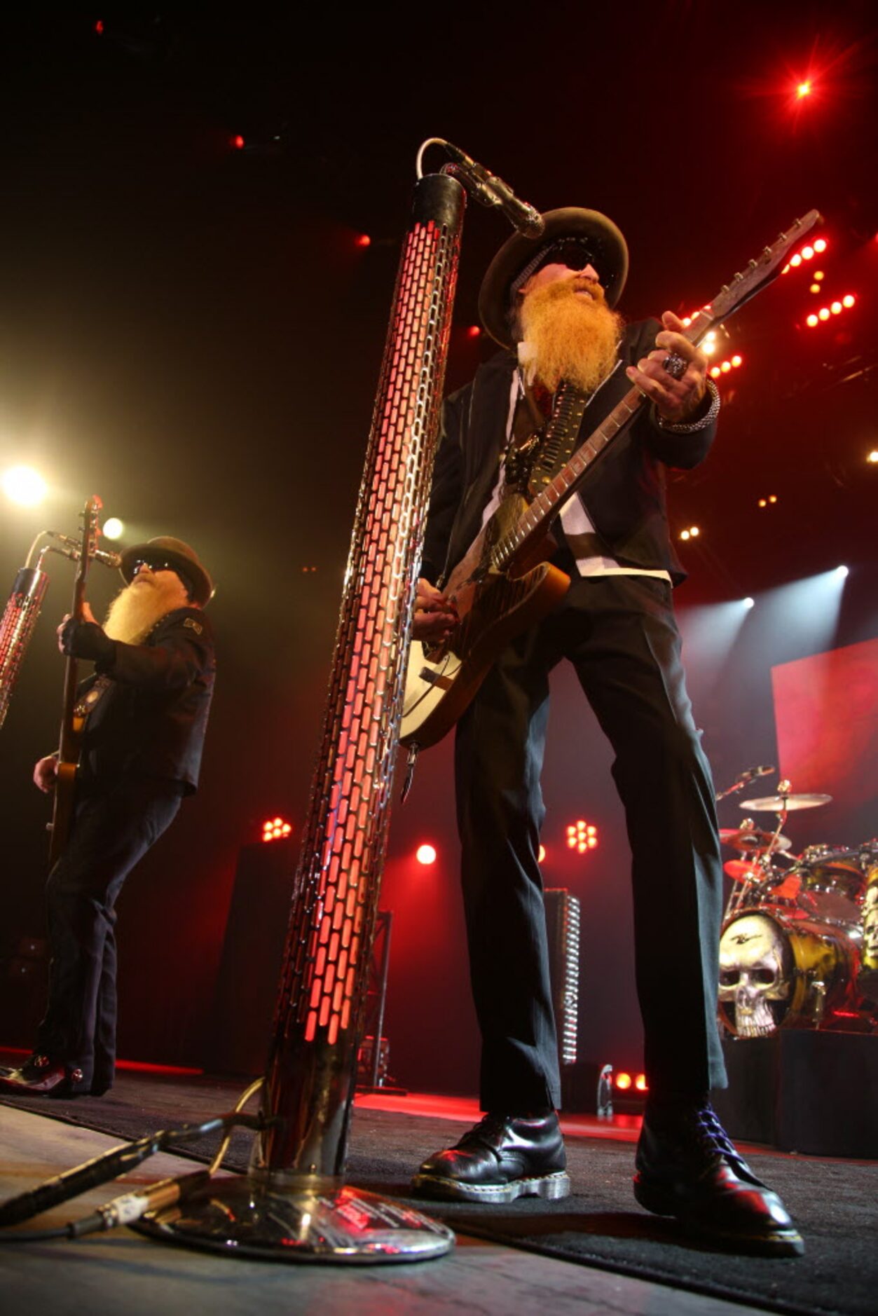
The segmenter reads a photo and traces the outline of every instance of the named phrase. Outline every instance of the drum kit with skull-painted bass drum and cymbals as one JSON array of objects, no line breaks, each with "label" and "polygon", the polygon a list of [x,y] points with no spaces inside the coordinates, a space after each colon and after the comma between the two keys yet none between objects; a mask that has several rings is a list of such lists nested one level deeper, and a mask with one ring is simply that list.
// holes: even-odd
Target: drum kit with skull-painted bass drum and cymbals
[{"label": "drum kit with skull-painted bass drum and cymbals", "polygon": [[[754,769],[724,791],[771,769]],[[831,795],[741,800],[750,813],[774,813],[773,832],[752,817],[723,828],[737,851],[720,936],[720,1024],[733,1037],[767,1037],[781,1028],[878,1030],[878,840],[852,848],[807,845],[792,853],[783,834],[790,813],[828,804]]]}]

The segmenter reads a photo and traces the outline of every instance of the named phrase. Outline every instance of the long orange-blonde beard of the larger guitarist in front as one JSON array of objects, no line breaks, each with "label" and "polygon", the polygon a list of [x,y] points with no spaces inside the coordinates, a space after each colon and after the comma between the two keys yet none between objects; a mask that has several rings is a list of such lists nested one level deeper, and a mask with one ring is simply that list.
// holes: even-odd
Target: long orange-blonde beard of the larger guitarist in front
[{"label": "long orange-blonde beard of the larger guitarist in front", "polygon": [[[577,288],[594,292],[586,297]],[[591,280],[559,279],[528,292],[521,304],[520,358],[528,380],[554,392],[562,379],[591,393],[616,365],[623,318]]]}]

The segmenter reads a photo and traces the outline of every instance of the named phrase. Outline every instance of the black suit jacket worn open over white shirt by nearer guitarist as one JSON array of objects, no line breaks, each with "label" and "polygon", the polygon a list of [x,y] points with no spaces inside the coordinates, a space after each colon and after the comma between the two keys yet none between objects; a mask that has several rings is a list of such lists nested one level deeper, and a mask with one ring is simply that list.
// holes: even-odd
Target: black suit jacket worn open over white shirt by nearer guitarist
[{"label": "black suit jacket worn open over white shirt by nearer guitarist", "polygon": [[[620,347],[623,365],[586,408],[581,442],[629,391],[624,367],[654,347],[659,329],[657,320],[628,325]],[[512,353],[498,353],[442,407],[421,567],[428,580],[448,575],[480,529],[505,449],[515,366]],[[595,463],[579,496],[598,534],[623,566],[665,569],[675,584],[684,579],[667,530],[665,468],[696,466],[715,433],[716,426],[708,425],[694,434],[670,434],[649,408]]]}]

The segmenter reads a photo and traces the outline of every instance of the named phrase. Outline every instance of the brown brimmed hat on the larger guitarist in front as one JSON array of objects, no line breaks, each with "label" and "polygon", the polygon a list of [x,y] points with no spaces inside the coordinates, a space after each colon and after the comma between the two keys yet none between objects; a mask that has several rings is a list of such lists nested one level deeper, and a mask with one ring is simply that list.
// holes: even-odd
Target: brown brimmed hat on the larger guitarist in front
[{"label": "brown brimmed hat on the larger guitarist in front", "polygon": [[608,307],[616,305],[625,287],[628,243],[612,220],[600,211],[584,211],[578,205],[546,211],[542,220],[545,229],[538,238],[513,233],[494,257],[482,280],[479,316],[502,347],[515,346],[509,309],[516,283],[525,282],[555,242],[575,240],[587,247],[591,263],[600,275]]}]

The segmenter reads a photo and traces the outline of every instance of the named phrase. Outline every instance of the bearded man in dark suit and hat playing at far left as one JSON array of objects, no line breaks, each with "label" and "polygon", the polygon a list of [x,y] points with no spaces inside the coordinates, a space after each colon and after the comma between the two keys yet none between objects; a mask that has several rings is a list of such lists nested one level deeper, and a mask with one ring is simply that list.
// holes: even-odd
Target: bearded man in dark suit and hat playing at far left
[{"label": "bearded man in dark suit and hat playing at far left", "polygon": [[[116,1058],[116,899],[199,778],[213,694],[213,638],[201,611],[213,584],[195,551],[162,537],[122,554],[128,582],[101,628],[58,626],[62,653],[95,663],[78,691],[84,717],[70,840],[49,874],[49,1001],[33,1054],[7,1091],[101,1096]],[[50,792],[57,755],[34,783]]]}]

